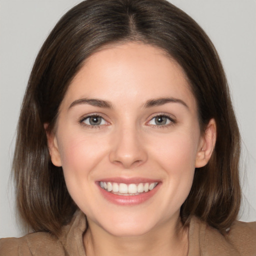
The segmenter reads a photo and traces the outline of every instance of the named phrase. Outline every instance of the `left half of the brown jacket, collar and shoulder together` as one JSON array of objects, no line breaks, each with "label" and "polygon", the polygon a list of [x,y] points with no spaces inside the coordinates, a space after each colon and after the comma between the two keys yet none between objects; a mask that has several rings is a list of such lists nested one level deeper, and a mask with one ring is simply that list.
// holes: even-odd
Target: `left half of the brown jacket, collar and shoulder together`
[{"label": "left half of the brown jacket, collar and shoulder together", "polygon": [[85,229],[86,217],[77,210],[71,221],[59,230],[58,236],[34,232],[19,238],[0,239],[0,256],[85,256],[82,241]]}]

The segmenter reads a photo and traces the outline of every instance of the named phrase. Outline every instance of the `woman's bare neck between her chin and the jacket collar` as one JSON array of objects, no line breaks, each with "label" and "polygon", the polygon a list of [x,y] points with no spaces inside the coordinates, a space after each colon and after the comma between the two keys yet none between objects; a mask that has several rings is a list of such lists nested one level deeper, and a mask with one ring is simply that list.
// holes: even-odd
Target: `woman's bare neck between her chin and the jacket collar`
[{"label": "woman's bare neck between her chin and the jacket collar", "polygon": [[88,219],[83,243],[86,256],[183,256],[188,251],[188,228],[182,227],[178,219],[142,235],[115,236]]}]

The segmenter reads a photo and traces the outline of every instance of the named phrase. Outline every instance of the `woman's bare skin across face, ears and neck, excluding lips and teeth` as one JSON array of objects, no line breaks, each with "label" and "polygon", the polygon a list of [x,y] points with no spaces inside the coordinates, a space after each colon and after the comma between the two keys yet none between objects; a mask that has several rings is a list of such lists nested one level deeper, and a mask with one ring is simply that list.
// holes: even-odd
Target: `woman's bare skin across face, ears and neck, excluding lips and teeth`
[{"label": "woman's bare skin across face, ears and neck, excluding lips and teeth", "polygon": [[[166,97],[175,102],[146,105]],[[100,125],[90,125],[88,114],[102,116]],[[156,124],[163,114],[166,124]],[[188,230],[179,210],[194,168],[211,155],[215,130],[210,120],[201,134],[183,70],[161,49],[129,42],[92,54],[62,100],[54,133],[47,134],[51,160],[62,166],[67,189],[87,217],[86,255],[186,255]],[[146,201],[118,205],[96,183],[112,177],[159,183]]]}]

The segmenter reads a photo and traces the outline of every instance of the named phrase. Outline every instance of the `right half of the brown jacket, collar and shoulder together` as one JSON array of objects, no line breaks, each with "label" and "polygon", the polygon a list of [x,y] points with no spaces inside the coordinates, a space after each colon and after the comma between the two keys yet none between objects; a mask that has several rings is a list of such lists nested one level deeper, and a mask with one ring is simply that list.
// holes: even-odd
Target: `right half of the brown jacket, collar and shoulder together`
[{"label": "right half of the brown jacket, collar and shoulder together", "polygon": [[188,255],[256,256],[256,222],[235,221],[223,235],[193,217],[189,226]]}]

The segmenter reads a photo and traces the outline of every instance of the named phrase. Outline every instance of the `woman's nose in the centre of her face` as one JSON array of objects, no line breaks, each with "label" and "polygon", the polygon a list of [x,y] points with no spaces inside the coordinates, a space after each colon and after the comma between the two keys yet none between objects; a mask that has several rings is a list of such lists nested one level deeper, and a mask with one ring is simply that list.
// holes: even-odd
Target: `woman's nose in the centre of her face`
[{"label": "woman's nose in the centre of her face", "polygon": [[135,128],[116,131],[111,142],[109,160],[123,168],[133,168],[147,160],[142,138]]}]

